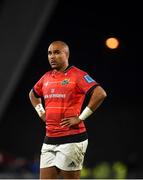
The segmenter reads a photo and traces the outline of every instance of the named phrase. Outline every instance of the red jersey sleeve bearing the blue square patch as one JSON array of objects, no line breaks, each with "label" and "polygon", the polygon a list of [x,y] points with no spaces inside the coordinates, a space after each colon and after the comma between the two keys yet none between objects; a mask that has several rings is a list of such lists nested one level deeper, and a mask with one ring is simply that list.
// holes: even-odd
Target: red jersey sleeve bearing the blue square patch
[{"label": "red jersey sleeve bearing the blue square patch", "polygon": [[89,74],[86,72],[80,73],[78,77],[78,87],[83,93],[87,93],[90,89],[98,86],[99,83],[95,81]]}]

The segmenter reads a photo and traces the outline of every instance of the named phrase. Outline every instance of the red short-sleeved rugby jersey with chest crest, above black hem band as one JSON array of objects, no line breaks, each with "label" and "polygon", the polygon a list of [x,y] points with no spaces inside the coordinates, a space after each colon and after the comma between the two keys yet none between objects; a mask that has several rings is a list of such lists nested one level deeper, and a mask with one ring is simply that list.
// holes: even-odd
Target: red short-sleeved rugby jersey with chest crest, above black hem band
[{"label": "red short-sleeved rugby jersey with chest crest, above black hem band", "polygon": [[51,70],[34,85],[38,96],[44,97],[46,136],[61,137],[86,131],[83,122],[62,127],[61,119],[79,116],[86,93],[98,83],[85,71],[71,66],[64,72]]}]

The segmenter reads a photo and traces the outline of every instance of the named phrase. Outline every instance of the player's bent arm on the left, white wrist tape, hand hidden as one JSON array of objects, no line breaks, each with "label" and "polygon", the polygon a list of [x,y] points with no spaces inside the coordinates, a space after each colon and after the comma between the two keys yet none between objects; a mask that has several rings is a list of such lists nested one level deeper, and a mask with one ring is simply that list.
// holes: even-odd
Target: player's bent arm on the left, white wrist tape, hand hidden
[{"label": "player's bent arm on the left, white wrist tape, hand hidden", "polygon": [[46,114],[45,114],[44,107],[42,105],[41,98],[35,97],[35,95],[33,93],[33,89],[31,89],[31,91],[29,92],[29,98],[30,98],[32,106],[37,111],[39,117],[45,122],[46,121]]}]

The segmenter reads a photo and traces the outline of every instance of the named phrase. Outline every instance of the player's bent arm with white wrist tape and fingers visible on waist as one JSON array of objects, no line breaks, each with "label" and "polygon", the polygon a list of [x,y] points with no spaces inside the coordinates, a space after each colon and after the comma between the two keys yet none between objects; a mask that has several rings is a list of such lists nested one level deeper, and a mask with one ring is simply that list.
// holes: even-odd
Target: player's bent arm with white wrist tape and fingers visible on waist
[{"label": "player's bent arm with white wrist tape and fingers visible on waist", "polygon": [[88,105],[79,117],[70,117],[62,119],[61,126],[73,126],[79,124],[82,120],[88,118],[102,104],[107,97],[105,90],[101,86],[97,86],[91,94]]}]

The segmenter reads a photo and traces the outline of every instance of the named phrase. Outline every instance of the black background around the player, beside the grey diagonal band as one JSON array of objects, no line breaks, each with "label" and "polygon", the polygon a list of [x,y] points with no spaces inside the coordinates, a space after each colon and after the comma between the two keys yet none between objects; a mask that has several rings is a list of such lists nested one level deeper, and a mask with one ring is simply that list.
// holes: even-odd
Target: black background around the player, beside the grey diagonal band
[{"label": "black background around the player, beside the grey diagonal band", "polygon": [[[112,36],[120,42],[114,50],[105,46]],[[27,158],[40,152],[45,128],[28,94],[50,68],[47,47],[54,40],[67,42],[70,63],[87,71],[108,95],[85,122],[86,165],[119,160],[142,171],[142,9],[137,2],[58,1],[1,118],[0,149]]]}]

